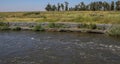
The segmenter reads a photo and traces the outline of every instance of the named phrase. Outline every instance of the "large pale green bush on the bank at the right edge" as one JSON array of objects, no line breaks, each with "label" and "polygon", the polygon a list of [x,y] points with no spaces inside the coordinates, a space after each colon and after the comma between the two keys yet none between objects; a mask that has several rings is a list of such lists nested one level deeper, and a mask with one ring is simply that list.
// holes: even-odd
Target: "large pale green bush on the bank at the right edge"
[{"label": "large pale green bush on the bank at the right edge", "polygon": [[112,26],[108,31],[107,34],[110,36],[120,36],[120,25]]}]

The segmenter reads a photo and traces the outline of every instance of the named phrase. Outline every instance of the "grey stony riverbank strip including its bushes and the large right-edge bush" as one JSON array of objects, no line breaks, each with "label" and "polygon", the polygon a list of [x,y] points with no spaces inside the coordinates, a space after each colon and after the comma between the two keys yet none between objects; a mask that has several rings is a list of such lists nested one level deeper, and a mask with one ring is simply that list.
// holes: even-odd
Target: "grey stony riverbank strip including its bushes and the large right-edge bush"
[{"label": "grey stony riverbank strip including its bushes and the large right-edge bush", "polygon": [[119,24],[85,24],[71,22],[0,22],[0,30],[48,32],[83,32],[120,36]]}]

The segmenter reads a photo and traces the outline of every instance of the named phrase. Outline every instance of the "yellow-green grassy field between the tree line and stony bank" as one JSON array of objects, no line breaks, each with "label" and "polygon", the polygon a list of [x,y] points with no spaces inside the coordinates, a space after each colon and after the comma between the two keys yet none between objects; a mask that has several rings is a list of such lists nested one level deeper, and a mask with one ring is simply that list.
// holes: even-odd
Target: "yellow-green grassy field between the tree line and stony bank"
[{"label": "yellow-green grassy field between the tree line and stony bank", "polygon": [[2,22],[80,22],[120,24],[118,11],[0,12]]}]

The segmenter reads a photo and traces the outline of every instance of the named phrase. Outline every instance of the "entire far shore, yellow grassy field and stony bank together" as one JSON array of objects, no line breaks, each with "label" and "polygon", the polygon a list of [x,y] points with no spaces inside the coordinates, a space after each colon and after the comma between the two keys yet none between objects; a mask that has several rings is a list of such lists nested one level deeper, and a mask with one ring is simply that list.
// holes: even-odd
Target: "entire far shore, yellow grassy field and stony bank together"
[{"label": "entire far shore, yellow grassy field and stony bank together", "polygon": [[[0,12],[0,30],[87,32],[120,36],[119,11]],[[5,25],[6,25],[5,24]]]}]

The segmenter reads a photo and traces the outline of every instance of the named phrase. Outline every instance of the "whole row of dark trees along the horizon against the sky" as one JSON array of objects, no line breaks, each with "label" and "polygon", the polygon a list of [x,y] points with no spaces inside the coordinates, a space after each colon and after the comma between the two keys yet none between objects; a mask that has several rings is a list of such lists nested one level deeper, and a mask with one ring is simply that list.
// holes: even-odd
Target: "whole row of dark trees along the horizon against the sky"
[{"label": "whole row of dark trees along the horizon against the sky", "polygon": [[80,2],[79,4],[69,7],[68,2],[58,3],[57,5],[47,4],[46,11],[120,11],[120,1],[96,1],[89,4]]}]

